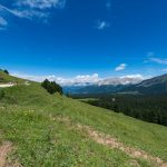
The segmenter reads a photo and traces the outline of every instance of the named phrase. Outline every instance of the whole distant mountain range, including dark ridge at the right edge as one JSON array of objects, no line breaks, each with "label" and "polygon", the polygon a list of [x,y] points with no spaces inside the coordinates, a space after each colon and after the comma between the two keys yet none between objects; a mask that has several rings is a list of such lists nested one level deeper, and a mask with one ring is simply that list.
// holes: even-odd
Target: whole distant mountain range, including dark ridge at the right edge
[{"label": "whole distant mountain range, including dark ridge at the right edge", "polygon": [[65,92],[89,94],[167,94],[167,75],[141,80],[139,78],[109,78],[98,85],[65,87]]}]

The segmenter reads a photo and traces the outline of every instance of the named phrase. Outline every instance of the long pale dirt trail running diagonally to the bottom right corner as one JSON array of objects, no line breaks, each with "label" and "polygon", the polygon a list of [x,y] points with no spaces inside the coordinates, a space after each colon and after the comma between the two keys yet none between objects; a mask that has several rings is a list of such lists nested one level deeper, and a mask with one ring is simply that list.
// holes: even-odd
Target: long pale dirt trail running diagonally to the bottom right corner
[{"label": "long pale dirt trail running diagonally to the bottom right corner", "polygon": [[[53,120],[63,121],[65,124],[71,122],[71,120],[69,118],[65,118],[65,117],[53,118]],[[85,125],[80,125],[80,124],[77,124],[77,125],[71,124],[71,125],[75,126],[76,129],[87,132],[87,135],[98,144],[108,146],[109,148],[119,149],[132,158],[143,158],[143,159],[151,163],[156,167],[167,167],[167,163],[161,160],[160,158],[154,157],[144,150],[128,147],[125,144],[119,143],[116,138],[114,138],[109,135],[99,132],[89,126],[85,126]]]}]

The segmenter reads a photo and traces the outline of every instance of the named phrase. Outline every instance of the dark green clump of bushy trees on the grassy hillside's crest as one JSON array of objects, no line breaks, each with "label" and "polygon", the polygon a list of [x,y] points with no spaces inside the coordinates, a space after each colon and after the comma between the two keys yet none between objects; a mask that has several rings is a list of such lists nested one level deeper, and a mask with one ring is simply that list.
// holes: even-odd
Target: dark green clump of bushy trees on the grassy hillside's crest
[{"label": "dark green clump of bushy trees on the grassy hillside's crest", "polygon": [[49,94],[55,94],[55,92],[59,92],[60,95],[62,95],[62,88],[56,84],[55,81],[49,81],[48,79],[46,79],[41,86],[47,89],[47,91]]}]

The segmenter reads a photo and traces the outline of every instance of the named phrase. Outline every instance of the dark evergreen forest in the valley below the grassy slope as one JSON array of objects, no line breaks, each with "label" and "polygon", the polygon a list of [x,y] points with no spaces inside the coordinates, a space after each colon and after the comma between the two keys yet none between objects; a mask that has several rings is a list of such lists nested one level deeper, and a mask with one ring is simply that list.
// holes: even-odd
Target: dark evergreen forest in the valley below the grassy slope
[{"label": "dark evergreen forest in the valley below the grassy slope", "polygon": [[166,95],[119,95],[89,100],[88,104],[111,109],[115,112],[122,112],[145,121],[167,126]]}]

